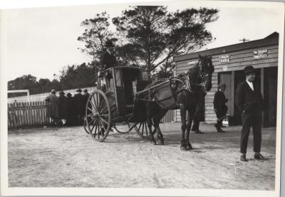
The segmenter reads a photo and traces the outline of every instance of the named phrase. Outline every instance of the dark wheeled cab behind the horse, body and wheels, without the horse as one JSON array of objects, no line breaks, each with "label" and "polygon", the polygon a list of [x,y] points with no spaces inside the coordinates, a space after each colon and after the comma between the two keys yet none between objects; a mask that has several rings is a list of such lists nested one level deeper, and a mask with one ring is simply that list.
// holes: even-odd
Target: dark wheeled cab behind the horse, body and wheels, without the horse
[{"label": "dark wheeled cab behind the horse, body and wheels, without the horse", "polygon": [[[147,73],[141,68],[117,66],[105,70],[105,83],[98,80],[98,90],[92,92],[86,104],[85,128],[93,139],[103,142],[110,130],[128,133],[135,129],[140,137],[147,137],[144,106],[136,97],[150,84]],[[118,129],[116,123],[124,122],[128,128]]]}]

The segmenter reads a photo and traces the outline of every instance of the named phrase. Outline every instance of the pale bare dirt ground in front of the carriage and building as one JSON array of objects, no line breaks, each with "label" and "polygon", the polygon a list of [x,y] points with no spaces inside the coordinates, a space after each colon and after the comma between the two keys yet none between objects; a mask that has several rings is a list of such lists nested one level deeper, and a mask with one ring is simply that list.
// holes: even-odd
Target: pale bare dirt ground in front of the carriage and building
[{"label": "pale bare dirt ground in front of the carriage and building", "polygon": [[[123,126],[119,126],[123,129]],[[191,133],[194,147],[180,150],[180,123],[161,124],[165,145],[154,146],[135,132],[110,133],[94,142],[83,127],[9,132],[9,187],[224,188],[274,190],[276,128],[262,130],[262,154],[239,161],[241,127]]]}]

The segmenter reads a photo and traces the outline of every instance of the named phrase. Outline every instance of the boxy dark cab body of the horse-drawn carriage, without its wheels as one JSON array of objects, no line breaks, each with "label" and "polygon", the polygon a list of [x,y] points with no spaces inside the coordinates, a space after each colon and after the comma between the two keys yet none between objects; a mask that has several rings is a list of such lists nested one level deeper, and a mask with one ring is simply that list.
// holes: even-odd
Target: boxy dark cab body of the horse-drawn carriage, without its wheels
[{"label": "boxy dark cab body of the horse-drawn carriage, without its wheels", "polygon": [[103,92],[108,99],[112,122],[126,121],[133,115],[136,93],[148,84],[147,73],[141,68],[117,66],[106,70]]}]

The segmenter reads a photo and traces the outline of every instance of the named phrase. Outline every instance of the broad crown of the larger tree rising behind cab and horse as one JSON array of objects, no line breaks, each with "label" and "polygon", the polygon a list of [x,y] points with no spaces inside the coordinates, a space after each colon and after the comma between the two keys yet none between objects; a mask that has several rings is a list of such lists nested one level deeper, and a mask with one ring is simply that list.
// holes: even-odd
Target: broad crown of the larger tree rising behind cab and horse
[{"label": "broad crown of the larger tree rising behind cab and horse", "polygon": [[142,68],[148,73],[168,65],[178,53],[189,53],[212,41],[206,24],[216,21],[217,9],[185,9],[167,13],[165,6],[132,6],[113,18]]}]

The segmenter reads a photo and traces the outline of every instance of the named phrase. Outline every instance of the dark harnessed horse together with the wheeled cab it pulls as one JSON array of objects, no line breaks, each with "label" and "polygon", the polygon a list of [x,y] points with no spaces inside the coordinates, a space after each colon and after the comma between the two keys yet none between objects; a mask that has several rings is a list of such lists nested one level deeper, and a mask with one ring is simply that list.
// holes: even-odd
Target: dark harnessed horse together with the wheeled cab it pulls
[{"label": "dark harnessed horse together with the wheeled cab it pulls", "polygon": [[[199,57],[199,62],[187,73],[162,81],[152,82],[141,68],[113,67],[105,71],[105,84],[92,92],[86,104],[86,132],[93,139],[103,142],[110,130],[120,133],[135,129],[140,137],[150,137],[157,132],[157,139],[163,144],[159,129],[160,119],[167,110],[180,109],[182,113],[183,143],[190,144],[189,134],[184,139],[186,125],[192,124],[192,115],[201,97],[201,90],[209,91],[214,67],[212,57]],[[102,78],[101,78],[102,79]],[[203,88],[202,88],[203,87]],[[125,122],[128,129],[119,130],[116,123]],[[152,130],[152,126],[155,129]],[[183,129],[184,128],[184,129]],[[189,128],[187,126],[187,132]],[[188,142],[186,142],[188,141]],[[182,145],[183,145],[182,143]],[[155,144],[155,142],[154,142]],[[183,145],[184,146],[184,145]],[[190,146],[188,146],[190,147]]]}]

